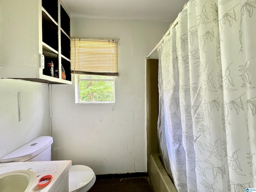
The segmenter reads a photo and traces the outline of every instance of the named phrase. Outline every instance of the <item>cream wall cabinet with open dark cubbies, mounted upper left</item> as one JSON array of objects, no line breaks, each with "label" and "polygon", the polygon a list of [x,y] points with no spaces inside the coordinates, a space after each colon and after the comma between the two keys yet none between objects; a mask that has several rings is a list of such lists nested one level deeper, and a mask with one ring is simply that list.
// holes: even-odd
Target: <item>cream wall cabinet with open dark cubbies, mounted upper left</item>
[{"label": "cream wall cabinet with open dark cubbies, mounted upper left", "polygon": [[60,0],[1,0],[0,13],[0,78],[72,84],[70,16]]}]

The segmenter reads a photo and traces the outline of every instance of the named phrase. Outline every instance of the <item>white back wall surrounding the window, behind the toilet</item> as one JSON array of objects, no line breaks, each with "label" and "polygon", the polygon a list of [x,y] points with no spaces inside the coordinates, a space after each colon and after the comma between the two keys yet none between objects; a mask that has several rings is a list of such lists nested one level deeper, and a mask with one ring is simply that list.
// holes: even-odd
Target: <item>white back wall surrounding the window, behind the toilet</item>
[{"label": "white back wall surrounding the window, behind the toilet", "polygon": [[96,174],[146,171],[145,57],[169,22],[72,18],[72,36],[119,38],[115,104],[74,104],[74,85],[52,86],[54,160]]}]

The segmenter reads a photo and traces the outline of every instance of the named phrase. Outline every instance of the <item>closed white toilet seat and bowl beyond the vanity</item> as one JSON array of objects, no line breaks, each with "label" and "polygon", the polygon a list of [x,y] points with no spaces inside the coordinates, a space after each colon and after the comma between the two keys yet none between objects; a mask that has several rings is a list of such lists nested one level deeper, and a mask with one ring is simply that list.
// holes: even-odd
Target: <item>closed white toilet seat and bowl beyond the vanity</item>
[{"label": "closed white toilet seat and bowl beyond the vanity", "polygon": [[69,192],[76,192],[83,188],[89,190],[96,181],[93,170],[85,165],[72,165],[69,172]]}]

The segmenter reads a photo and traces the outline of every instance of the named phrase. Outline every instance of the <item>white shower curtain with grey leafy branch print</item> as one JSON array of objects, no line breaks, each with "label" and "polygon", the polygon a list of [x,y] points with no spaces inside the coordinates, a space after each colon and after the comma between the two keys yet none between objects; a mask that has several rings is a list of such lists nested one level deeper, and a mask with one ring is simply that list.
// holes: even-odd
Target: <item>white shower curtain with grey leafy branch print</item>
[{"label": "white shower curtain with grey leafy branch print", "polygon": [[158,136],[178,192],[256,188],[256,0],[190,0],[169,30]]}]

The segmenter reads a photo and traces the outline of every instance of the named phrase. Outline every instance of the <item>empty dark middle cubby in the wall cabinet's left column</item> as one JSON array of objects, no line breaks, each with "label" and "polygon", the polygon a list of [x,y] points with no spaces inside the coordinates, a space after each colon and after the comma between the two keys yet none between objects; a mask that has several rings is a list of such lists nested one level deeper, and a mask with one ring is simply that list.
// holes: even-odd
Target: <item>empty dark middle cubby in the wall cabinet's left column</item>
[{"label": "empty dark middle cubby in the wall cabinet's left column", "polygon": [[58,26],[42,11],[42,40],[58,51]]}]

